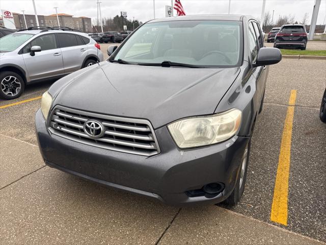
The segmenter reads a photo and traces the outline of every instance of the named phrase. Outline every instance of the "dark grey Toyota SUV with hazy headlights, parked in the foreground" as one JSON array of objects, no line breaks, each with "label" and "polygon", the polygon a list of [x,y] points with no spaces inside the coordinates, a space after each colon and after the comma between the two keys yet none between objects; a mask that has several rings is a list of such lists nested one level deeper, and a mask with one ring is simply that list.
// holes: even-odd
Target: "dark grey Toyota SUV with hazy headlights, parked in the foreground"
[{"label": "dark grey Toyota SUV with hazy headlights, parked in the foreground", "polygon": [[45,163],[169,204],[236,204],[268,65],[282,58],[263,45],[248,16],[145,23],[106,62],[43,94],[35,121]]}]

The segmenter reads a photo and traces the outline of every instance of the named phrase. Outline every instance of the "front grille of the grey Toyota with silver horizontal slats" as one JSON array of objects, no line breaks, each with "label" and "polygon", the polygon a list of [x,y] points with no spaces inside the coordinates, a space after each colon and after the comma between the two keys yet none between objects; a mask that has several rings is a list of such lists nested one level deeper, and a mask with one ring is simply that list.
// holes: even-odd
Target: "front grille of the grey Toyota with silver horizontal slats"
[{"label": "front grille of the grey Toyota with silver horizontal slats", "polygon": [[[104,134],[92,138],[84,131],[88,120],[96,120]],[[58,136],[103,149],[143,156],[158,154],[154,130],[148,120],[118,117],[56,106],[48,123],[49,131]]]}]

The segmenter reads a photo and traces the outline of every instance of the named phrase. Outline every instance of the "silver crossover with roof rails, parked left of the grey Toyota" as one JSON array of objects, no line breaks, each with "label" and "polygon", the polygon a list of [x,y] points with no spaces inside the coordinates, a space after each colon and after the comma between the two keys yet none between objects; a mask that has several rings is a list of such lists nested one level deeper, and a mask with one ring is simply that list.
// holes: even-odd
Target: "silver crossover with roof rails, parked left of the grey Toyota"
[{"label": "silver crossover with roof rails, parked left of the grey Toyota", "polygon": [[0,97],[19,97],[26,84],[57,79],[103,61],[100,45],[85,33],[32,27],[0,38]]}]

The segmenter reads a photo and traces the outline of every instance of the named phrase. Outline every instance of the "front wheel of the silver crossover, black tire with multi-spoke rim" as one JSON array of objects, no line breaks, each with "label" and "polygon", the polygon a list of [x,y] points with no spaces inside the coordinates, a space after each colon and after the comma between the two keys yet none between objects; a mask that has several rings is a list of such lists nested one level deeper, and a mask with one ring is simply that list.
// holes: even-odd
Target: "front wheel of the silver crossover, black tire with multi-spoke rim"
[{"label": "front wheel of the silver crossover, black tire with multi-spoke rim", "polygon": [[4,71],[0,74],[0,97],[5,100],[18,98],[25,89],[24,80],[13,71]]}]

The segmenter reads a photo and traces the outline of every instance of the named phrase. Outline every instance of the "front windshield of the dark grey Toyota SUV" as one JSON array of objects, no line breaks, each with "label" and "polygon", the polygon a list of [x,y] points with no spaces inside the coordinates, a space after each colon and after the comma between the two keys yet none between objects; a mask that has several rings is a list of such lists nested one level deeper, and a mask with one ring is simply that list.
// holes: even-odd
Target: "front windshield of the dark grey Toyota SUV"
[{"label": "front windshield of the dark grey Toyota SUV", "polygon": [[197,66],[235,66],[241,22],[185,20],[144,24],[110,60],[133,64],[169,61]]}]

